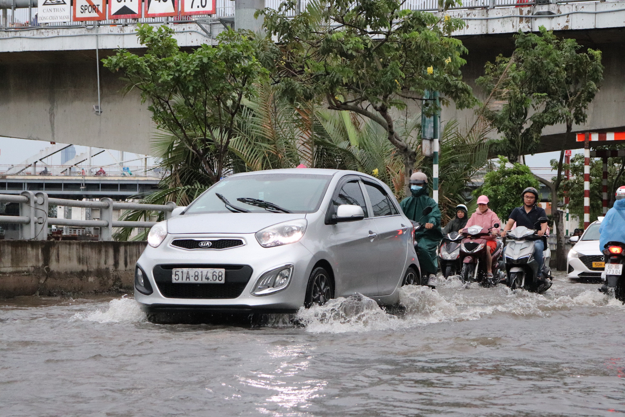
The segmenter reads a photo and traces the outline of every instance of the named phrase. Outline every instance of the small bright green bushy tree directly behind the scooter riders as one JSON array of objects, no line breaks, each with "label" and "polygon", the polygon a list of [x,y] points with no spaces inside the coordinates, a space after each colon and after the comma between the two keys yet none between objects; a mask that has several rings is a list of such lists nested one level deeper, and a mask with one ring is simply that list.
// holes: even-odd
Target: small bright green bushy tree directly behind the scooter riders
[{"label": "small bright green bushy tree directly behind the scooter riders", "polygon": [[484,184],[473,191],[473,196],[484,194],[490,201],[491,210],[502,222],[507,221],[515,207],[523,205],[521,193],[527,187],[539,188],[540,184],[526,165],[510,163],[499,156],[499,167],[486,173]]}]

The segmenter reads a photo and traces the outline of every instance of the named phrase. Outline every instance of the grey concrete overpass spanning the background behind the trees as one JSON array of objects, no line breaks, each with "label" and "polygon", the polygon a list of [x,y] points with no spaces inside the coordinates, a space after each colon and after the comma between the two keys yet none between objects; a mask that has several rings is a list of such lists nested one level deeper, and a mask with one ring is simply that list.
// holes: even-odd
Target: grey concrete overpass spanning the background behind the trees
[{"label": "grey concrete overpass spanning the background behind the trees", "polygon": [[[0,0],[0,8],[7,1]],[[261,0],[219,1],[216,15],[191,16],[192,20],[178,17],[177,21],[174,18],[141,21],[170,24],[179,45],[194,48],[213,43],[214,37],[232,23],[239,27],[257,25],[250,16],[264,4]],[[541,1],[544,0],[536,3]],[[576,38],[584,47],[601,49],[604,53],[602,89],[589,109],[587,124],[576,126],[574,131],[625,130],[625,56],[621,52],[625,50],[625,0],[552,1],[517,4],[511,0],[469,0],[464,3],[464,9],[452,11],[467,21],[467,28],[454,34],[469,49],[467,65],[462,69],[465,79],[474,85],[486,61],[492,61],[499,53],[511,54],[512,35],[517,30],[536,31],[544,25],[556,30],[559,36]],[[411,0],[406,8],[435,10],[435,3]],[[279,0],[267,0],[269,7],[277,4]],[[302,1],[302,7],[305,4]],[[121,96],[123,81],[101,65],[102,114],[94,113],[98,104],[96,53],[101,59],[113,54],[116,48],[136,53],[143,50],[134,36],[131,19],[103,21],[101,26],[91,22],[88,26],[71,23],[1,29],[0,136],[150,154],[149,140],[155,129],[147,106],[140,103],[137,92]],[[477,89],[476,93],[479,93]],[[444,110],[442,119],[462,121],[471,116],[472,111],[450,108]],[[540,151],[560,149],[563,132],[562,126],[546,129]],[[566,144],[566,147],[579,148],[579,144]]]}]

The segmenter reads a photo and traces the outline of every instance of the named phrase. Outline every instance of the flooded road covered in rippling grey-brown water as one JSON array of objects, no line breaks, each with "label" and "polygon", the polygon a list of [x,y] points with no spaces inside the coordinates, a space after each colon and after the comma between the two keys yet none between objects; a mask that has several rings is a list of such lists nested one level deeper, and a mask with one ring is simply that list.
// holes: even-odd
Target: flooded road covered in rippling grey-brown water
[{"label": "flooded road covered in rippling grey-brown water", "polygon": [[452,280],[258,328],[152,324],[128,297],[0,300],[0,414],[625,414],[625,307],[597,288]]}]

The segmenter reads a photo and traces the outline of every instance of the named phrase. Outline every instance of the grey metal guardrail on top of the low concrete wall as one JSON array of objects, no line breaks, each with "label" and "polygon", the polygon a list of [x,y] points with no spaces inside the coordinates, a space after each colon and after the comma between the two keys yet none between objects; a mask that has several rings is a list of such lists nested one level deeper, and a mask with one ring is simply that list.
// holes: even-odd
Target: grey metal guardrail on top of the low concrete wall
[{"label": "grey metal guardrail on top of the low concrete wall", "polygon": [[[0,216],[0,223],[21,224],[19,237],[27,240],[46,240],[47,226],[78,226],[100,228],[99,239],[113,239],[113,228],[151,228],[156,221],[113,221],[113,209],[164,211],[165,219],[171,217],[176,203],[166,204],[118,203],[110,198],[100,201],[78,201],[62,198],[48,198],[46,193],[23,191],[19,196],[0,194],[0,203],[19,203],[19,216]],[[57,219],[47,216],[53,206],[95,208],[100,210],[99,220]]]}]

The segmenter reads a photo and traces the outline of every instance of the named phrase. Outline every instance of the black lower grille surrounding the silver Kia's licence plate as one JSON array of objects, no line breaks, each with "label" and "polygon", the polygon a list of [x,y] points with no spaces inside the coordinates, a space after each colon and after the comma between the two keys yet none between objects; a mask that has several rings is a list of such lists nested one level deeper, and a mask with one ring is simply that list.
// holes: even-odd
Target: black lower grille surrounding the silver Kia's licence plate
[{"label": "black lower grille surrounding the silver Kia's licence plate", "polygon": [[[226,282],[223,284],[172,283],[172,270],[176,268],[223,268]],[[249,265],[221,264],[168,264],[154,267],[153,276],[161,294],[166,298],[237,298],[252,276]]]}]

